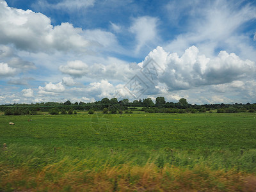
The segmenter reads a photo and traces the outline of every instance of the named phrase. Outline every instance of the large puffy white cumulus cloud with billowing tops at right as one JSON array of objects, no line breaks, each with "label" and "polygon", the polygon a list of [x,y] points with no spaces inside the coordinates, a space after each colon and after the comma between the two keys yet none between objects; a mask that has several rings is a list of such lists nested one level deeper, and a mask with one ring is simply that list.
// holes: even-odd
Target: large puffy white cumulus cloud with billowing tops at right
[{"label": "large puffy white cumulus cloud with billowing tops at right", "polygon": [[206,58],[199,54],[195,46],[186,49],[182,56],[176,52],[170,54],[157,47],[139,65],[143,67],[150,58],[164,68],[157,81],[166,84],[169,90],[186,90],[233,81],[237,83],[244,78],[253,77],[256,72],[253,61],[241,60],[236,54],[228,54],[226,51],[220,51],[215,58]]}]

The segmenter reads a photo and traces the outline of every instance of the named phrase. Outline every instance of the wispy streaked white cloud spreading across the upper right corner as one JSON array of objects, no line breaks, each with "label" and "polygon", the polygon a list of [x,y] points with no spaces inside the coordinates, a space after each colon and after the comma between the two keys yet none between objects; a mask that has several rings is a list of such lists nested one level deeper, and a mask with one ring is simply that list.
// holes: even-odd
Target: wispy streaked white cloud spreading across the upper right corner
[{"label": "wispy streaked white cloud spreading across the upper right corner", "polygon": [[[179,4],[188,5],[187,1]],[[255,6],[242,6],[233,1],[193,1],[189,6],[182,8],[173,6],[173,3],[166,8],[172,10],[170,18],[172,14],[180,15],[176,20],[177,26],[181,24],[184,26],[183,31],[188,32],[175,36],[164,49],[181,54],[187,47],[196,45],[208,57],[214,56],[216,50],[222,49],[236,52],[243,58],[256,59],[256,56],[251,54],[256,51],[250,46],[252,39],[250,36],[241,35],[243,25],[256,18]]]}]

